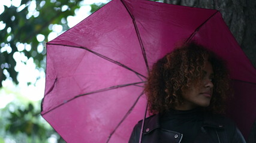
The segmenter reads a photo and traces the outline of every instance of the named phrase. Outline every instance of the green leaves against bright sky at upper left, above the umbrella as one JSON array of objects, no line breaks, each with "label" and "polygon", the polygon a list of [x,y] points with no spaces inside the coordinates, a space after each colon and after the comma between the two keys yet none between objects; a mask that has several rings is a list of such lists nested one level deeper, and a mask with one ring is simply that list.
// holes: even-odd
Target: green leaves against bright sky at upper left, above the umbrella
[{"label": "green leaves against bright sky at upper left, above the umbrella", "polygon": [[[16,61],[13,58],[15,52],[24,54],[27,58],[34,58],[37,68],[45,68],[46,48],[38,52],[38,45],[44,45],[47,36],[53,31],[50,24],[59,24],[63,30],[69,29],[67,17],[74,15],[80,8],[82,0],[22,0],[20,7],[4,6],[4,12],[0,15],[0,24],[5,24],[0,30],[0,87],[2,80],[10,74],[13,82],[18,83],[17,71],[14,69]],[[32,5],[35,6],[33,9]],[[92,12],[98,10],[103,4],[92,4]],[[44,42],[38,42],[37,35],[44,35]],[[31,45],[30,48],[19,49],[19,43]],[[23,61],[26,64],[26,61]],[[5,72],[4,72],[5,71]],[[4,74],[5,73],[5,74]]]}]

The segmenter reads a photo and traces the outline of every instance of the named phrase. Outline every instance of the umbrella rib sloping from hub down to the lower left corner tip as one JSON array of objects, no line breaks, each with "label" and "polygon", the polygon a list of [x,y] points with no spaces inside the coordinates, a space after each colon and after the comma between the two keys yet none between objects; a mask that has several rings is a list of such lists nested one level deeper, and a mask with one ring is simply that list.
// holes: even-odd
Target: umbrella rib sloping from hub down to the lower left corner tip
[{"label": "umbrella rib sloping from hub down to the lower left corner tip", "polygon": [[[70,102],[70,101],[72,101],[72,100],[74,100],[74,99],[76,99],[76,98],[78,98],[78,97],[83,97],[83,96],[90,95],[90,94],[96,94],[96,93],[98,93],[98,92],[103,92],[103,91],[109,91],[109,90],[116,89],[116,88],[123,88],[123,87],[125,87],[125,86],[137,85],[137,84],[140,84],[140,83],[144,83],[144,82],[134,82],[134,83],[128,83],[128,84],[124,84],[124,85],[116,85],[116,86],[111,86],[111,87],[109,87],[109,88],[103,88],[103,89],[99,89],[99,90],[97,90],[97,91],[88,92],[88,93],[86,93],[86,94],[76,95],[75,97],[71,98],[70,100],[65,100],[64,102],[62,102],[62,104],[59,104],[58,106],[56,106],[56,107],[50,109],[49,111],[47,111],[47,112],[44,113],[44,114],[47,114],[47,113],[49,113],[50,111],[55,110],[56,108],[61,107],[62,105],[66,104],[67,102]],[[42,114],[42,116],[43,116],[44,114]]]}]

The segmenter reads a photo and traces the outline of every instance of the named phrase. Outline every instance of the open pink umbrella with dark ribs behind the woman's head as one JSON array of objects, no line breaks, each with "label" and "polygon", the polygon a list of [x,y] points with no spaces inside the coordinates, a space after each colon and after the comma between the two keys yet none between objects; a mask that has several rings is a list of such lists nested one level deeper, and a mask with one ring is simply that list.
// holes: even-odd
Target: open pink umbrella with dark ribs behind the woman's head
[{"label": "open pink umbrella with dark ribs behind the woman's head", "polygon": [[256,70],[217,10],[113,0],[47,43],[42,116],[67,142],[128,142],[143,119],[149,67],[181,41],[227,60],[228,116],[245,137],[256,118]]}]

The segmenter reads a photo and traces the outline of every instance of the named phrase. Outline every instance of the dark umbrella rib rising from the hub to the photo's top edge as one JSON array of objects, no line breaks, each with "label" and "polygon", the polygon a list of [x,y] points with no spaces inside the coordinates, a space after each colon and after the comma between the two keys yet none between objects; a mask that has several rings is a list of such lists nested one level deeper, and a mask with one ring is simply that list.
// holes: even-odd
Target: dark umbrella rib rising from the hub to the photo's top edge
[{"label": "dark umbrella rib rising from the hub to the photo's top edge", "polygon": [[144,58],[144,61],[145,61],[146,67],[147,67],[147,73],[149,73],[149,64],[147,63],[146,51],[145,51],[143,42],[142,42],[141,37],[140,37],[140,32],[138,32],[138,27],[137,27],[135,18],[134,18],[134,16],[131,14],[131,12],[129,11],[127,5],[125,5],[125,2],[124,2],[123,0],[121,0],[121,2],[122,2],[122,4],[124,5],[124,7],[125,7],[125,9],[127,10],[127,12],[129,13],[129,15],[131,16],[131,18],[132,18],[132,23],[133,23],[133,25],[134,25],[135,32],[136,32],[136,34],[137,34],[138,42],[140,42],[141,52],[142,52],[142,54],[143,54],[143,58]]}]

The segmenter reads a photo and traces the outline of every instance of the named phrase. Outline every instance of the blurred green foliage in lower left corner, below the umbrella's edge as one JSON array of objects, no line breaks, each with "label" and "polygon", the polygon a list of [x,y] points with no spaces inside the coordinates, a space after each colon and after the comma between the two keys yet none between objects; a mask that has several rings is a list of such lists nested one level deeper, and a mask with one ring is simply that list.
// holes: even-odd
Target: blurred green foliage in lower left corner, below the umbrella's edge
[{"label": "blurred green foliage in lower left corner, below the umbrella's edge", "polygon": [[[51,136],[56,136],[58,142],[65,142],[40,116],[40,111],[29,103],[26,107],[8,104],[0,111],[0,136],[13,139],[16,142],[48,142]],[[3,126],[2,126],[3,125]],[[3,139],[2,139],[3,140]],[[1,141],[1,139],[0,139]]]}]

